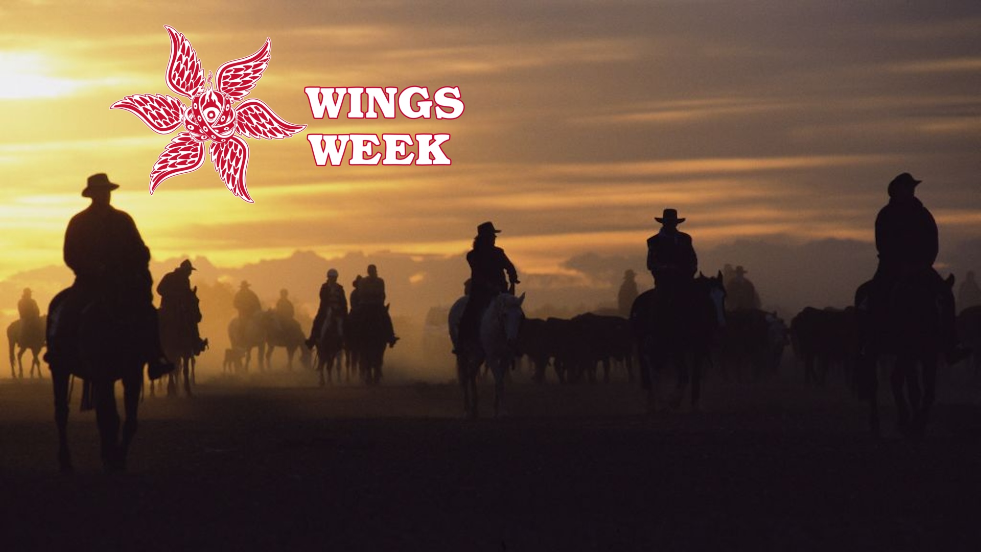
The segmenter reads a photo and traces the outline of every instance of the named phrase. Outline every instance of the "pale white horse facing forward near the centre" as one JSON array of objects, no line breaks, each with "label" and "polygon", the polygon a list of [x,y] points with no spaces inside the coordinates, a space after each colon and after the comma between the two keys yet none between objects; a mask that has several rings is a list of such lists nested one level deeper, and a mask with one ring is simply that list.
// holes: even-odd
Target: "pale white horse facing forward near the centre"
[{"label": "pale white horse facing forward near the centre", "polygon": [[[458,365],[461,366],[461,384],[463,386],[464,413],[471,418],[477,417],[477,375],[481,364],[487,363],[494,380],[493,415],[503,413],[504,374],[512,365],[518,350],[518,336],[525,313],[521,304],[525,302],[525,294],[515,297],[511,294],[498,294],[481,315],[480,340],[477,343],[457,343],[456,354]],[[450,310],[449,327],[459,328],[463,309]],[[458,333],[450,334],[450,338],[459,339]]]}]

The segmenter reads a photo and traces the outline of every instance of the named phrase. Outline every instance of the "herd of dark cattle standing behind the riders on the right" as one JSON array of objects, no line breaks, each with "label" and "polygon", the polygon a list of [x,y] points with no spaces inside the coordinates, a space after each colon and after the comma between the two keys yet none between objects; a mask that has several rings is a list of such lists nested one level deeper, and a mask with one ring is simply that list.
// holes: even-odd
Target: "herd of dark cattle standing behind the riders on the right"
[{"label": "herd of dark cattle standing behind the riders on the right", "polygon": [[[981,306],[963,310],[957,330],[966,346],[981,350]],[[568,319],[527,318],[520,336],[518,352],[536,383],[545,381],[549,367],[563,384],[600,377],[609,381],[611,370],[621,370],[629,381],[637,377],[630,321],[621,316],[587,312]],[[858,355],[854,307],[807,306],[789,327],[773,312],[728,311],[725,328],[714,339],[712,367],[725,381],[758,381],[777,373],[787,345],[804,384],[823,386],[830,374],[851,385]],[[966,366],[981,376],[981,356],[972,356]]]}]

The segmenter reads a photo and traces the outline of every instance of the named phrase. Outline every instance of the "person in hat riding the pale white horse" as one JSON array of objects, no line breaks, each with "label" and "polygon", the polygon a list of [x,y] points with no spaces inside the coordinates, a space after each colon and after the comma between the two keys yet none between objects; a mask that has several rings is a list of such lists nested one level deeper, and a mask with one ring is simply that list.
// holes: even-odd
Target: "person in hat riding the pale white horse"
[{"label": "person in hat riding the pale white horse", "polygon": [[[513,293],[514,286],[520,284],[518,272],[504,249],[496,247],[497,230],[492,222],[477,227],[474,248],[467,253],[470,264],[470,299],[463,309],[460,320],[460,342],[475,342],[479,339],[481,316],[493,301],[502,293]],[[507,279],[505,280],[505,274]]]}]

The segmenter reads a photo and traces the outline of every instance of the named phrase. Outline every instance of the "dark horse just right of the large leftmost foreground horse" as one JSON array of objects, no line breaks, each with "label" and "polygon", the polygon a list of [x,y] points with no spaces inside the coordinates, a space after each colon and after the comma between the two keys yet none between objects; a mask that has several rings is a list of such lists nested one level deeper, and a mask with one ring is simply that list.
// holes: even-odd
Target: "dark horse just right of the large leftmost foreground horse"
[{"label": "dark horse just right of the large leftmost foreground horse", "polygon": [[[197,287],[195,286],[192,291],[193,301],[189,304],[160,310],[160,345],[164,350],[164,355],[171,359],[177,367],[168,374],[168,397],[178,394],[177,388],[180,385],[181,375],[183,376],[184,394],[188,397],[191,396],[191,369],[194,358],[207,348],[207,340],[202,340],[197,330],[197,324],[201,321]],[[153,395],[153,393],[154,386],[151,381],[150,394]]]}]

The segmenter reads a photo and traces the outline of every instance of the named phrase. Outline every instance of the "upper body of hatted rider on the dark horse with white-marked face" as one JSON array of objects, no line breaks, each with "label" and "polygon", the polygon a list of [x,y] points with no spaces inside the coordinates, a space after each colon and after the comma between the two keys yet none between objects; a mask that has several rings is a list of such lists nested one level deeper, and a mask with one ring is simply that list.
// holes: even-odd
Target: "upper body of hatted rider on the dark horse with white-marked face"
[{"label": "upper body of hatted rider on the dark horse with white-marked face", "polygon": [[692,237],[678,230],[685,219],[678,218],[676,209],[664,209],[663,216],[654,220],[661,223],[661,229],[647,239],[647,270],[659,290],[673,293],[695,277],[698,257]]}]

